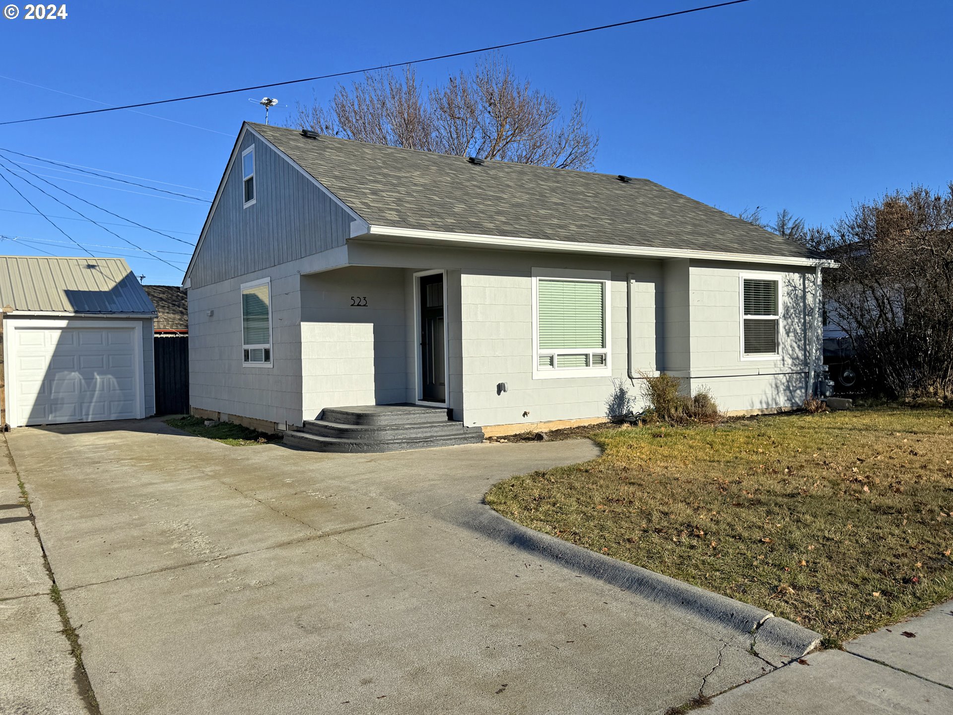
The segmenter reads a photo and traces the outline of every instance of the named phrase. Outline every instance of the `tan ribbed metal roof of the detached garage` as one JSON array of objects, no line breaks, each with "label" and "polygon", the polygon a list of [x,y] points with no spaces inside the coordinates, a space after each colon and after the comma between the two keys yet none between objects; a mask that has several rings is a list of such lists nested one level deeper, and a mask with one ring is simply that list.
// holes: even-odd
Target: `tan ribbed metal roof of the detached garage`
[{"label": "tan ribbed metal roof of the detached garage", "polygon": [[7,313],[155,315],[122,258],[0,255],[0,307]]}]

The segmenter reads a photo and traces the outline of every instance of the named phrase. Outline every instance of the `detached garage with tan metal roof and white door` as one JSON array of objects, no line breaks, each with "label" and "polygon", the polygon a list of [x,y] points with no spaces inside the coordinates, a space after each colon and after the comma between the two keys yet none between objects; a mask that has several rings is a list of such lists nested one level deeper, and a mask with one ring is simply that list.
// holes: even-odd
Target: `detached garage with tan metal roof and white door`
[{"label": "detached garage with tan metal roof and white door", "polygon": [[121,258],[0,256],[3,423],[155,412],[152,318]]}]

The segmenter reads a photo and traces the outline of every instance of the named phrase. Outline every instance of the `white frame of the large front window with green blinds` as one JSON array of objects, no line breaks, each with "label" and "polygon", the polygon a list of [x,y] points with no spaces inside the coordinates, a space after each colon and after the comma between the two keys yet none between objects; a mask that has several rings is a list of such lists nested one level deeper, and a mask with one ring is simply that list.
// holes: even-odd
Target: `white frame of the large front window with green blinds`
[{"label": "white frame of the large front window with green blinds", "polygon": [[[539,350],[539,279],[573,280],[580,283],[602,283],[602,331],[604,349]],[[609,271],[574,271],[559,268],[534,268],[533,280],[533,379],[606,378],[612,376],[612,274]],[[592,367],[592,354],[605,353],[605,365]],[[588,367],[556,367],[558,355],[589,354]],[[552,355],[553,367],[539,367],[540,355]]]}]

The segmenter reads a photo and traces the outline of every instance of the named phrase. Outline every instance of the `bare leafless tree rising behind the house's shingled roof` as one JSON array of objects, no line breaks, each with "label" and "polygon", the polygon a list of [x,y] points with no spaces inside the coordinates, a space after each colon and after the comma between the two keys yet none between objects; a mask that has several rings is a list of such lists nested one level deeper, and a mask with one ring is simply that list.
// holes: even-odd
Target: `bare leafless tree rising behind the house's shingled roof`
[{"label": "bare leafless tree rising behind the house's shingled roof", "polygon": [[561,169],[590,169],[598,135],[577,101],[563,116],[558,101],[534,90],[498,56],[425,90],[413,68],[372,72],[331,101],[297,105],[292,126],[375,144],[476,155]]}]

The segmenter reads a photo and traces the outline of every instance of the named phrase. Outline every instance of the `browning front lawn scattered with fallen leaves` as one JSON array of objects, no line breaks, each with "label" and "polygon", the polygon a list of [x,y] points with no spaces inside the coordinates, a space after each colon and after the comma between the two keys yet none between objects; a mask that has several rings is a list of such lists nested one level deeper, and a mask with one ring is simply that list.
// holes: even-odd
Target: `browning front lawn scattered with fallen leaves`
[{"label": "browning front lawn scattered with fallen leaves", "polygon": [[953,411],[650,425],[498,483],[538,531],[843,641],[953,598]]}]

